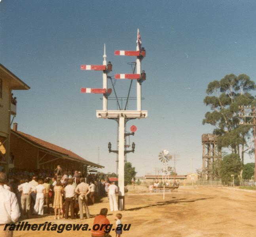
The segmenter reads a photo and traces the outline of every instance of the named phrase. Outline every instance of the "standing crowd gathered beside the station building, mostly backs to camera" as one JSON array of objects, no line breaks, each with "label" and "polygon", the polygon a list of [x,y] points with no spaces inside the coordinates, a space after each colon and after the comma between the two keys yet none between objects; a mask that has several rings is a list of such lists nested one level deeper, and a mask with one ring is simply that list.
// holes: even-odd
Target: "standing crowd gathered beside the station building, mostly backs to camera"
[{"label": "standing crowd gathered beside the station building, mostly backs to camera", "polygon": [[4,188],[16,195],[21,218],[53,212],[55,219],[68,218],[70,210],[71,219],[83,219],[83,208],[86,218],[90,218],[88,205],[107,195],[110,210],[118,211],[118,187],[103,174],[86,175],[76,170],[63,170],[61,166],[55,170],[13,168],[9,170]]}]

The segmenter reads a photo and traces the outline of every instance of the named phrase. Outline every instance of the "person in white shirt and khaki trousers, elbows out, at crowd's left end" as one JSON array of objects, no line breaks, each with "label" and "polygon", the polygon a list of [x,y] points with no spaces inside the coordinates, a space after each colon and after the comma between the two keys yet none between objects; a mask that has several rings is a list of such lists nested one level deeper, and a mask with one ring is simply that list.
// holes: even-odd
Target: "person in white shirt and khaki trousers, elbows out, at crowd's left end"
[{"label": "person in white shirt and khaki trousers, elbows out, at crowd's left end", "polygon": [[[28,183],[28,179],[25,179],[25,183],[18,186],[18,191],[22,192],[21,194],[21,209],[22,213],[21,216],[24,215],[24,213],[27,214],[27,218],[30,218],[30,194],[35,190],[35,187]],[[26,206],[26,208],[25,208]]]}]

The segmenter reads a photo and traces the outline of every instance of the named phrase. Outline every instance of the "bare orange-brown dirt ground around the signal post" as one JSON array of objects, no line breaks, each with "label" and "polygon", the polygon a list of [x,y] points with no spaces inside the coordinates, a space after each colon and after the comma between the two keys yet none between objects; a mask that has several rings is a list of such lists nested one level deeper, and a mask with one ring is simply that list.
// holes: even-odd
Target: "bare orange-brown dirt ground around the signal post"
[{"label": "bare orange-brown dirt ground around the signal post", "polygon": [[[122,223],[131,224],[129,231],[121,236],[132,237],[255,237],[256,194],[217,187],[180,187],[177,192],[162,194],[130,192],[125,199]],[[133,193],[134,192],[134,193]],[[137,192],[137,193],[136,193]],[[101,208],[109,207],[108,199],[89,206],[93,215],[89,220],[54,220],[53,215],[28,220],[31,224],[46,221],[52,224],[88,223]],[[108,213],[114,224],[114,212]],[[14,237],[87,237],[90,231],[15,231]],[[110,233],[115,237],[114,231]]]}]

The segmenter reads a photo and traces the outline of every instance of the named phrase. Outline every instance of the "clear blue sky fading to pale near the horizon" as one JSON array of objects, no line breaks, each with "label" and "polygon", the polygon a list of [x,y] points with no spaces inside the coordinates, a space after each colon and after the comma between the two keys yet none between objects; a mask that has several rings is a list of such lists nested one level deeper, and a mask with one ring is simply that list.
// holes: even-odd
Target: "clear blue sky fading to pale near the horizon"
[{"label": "clear blue sky fading to pale near the horizon", "polygon": [[[80,87],[101,88],[102,75],[80,65],[101,64],[106,43],[112,74],[130,73],[126,63],[134,58],[114,50],[135,50],[139,28],[147,51],[142,107],[149,116],[128,123],[138,127],[128,160],[138,175],[154,174],[161,168],[158,153],[167,149],[180,154],[179,174],[200,168],[201,134],[212,132],[202,125],[208,83],[228,73],[256,77],[255,8],[255,1],[228,0],[2,0],[0,62],[31,87],[15,91],[15,122],[22,132],[93,162],[100,147],[104,171],[116,171],[107,149],[108,141],[116,144],[116,122],[96,118],[99,95],[80,94]],[[117,81],[119,96],[127,95],[128,83]]]}]

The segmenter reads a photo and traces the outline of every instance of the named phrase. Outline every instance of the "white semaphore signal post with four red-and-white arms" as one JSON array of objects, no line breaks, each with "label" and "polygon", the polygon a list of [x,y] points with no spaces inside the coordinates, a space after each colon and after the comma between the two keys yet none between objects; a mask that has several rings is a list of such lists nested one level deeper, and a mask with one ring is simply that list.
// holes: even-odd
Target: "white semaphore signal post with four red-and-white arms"
[{"label": "white semaphore signal post with four red-and-white arms", "polygon": [[[131,119],[143,119],[148,116],[148,111],[141,107],[141,86],[142,82],[146,80],[146,73],[141,71],[142,59],[146,56],[146,51],[141,47],[141,39],[139,30],[137,32],[137,47],[136,51],[115,51],[115,55],[119,56],[136,56],[136,74],[116,74],[116,79],[137,80],[137,110],[126,110],[126,108],[119,110],[108,109],[108,96],[110,96],[112,89],[108,88],[108,73],[112,71],[112,64],[106,61],[106,47],[104,45],[103,65],[81,65],[81,70],[96,70],[102,71],[103,86],[102,88],[81,88],[82,93],[103,94],[103,109],[96,111],[97,118],[114,119],[118,122],[118,150],[112,151],[111,144],[109,144],[109,152],[118,154],[118,208],[120,211],[124,210],[124,165],[125,153],[131,152],[125,150],[125,124]],[[114,89],[114,88],[113,88]],[[116,94],[116,92],[115,92]],[[128,98],[127,98],[128,99]],[[117,98],[118,100],[118,98]],[[134,152],[135,145],[132,152]]]}]

